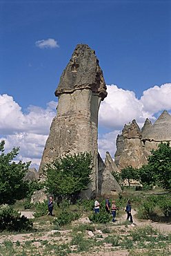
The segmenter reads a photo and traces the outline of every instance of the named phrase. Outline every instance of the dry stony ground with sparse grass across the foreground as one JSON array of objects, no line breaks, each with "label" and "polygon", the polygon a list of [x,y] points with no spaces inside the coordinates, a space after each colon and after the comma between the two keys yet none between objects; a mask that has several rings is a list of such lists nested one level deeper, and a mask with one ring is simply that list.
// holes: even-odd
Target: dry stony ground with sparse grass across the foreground
[{"label": "dry stony ground with sparse grass across the foreground", "polygon": [[[171,255],[171,223],[139,221],[136,213],[132,210],[135,225],[125,223],[124,213],[116,223],[107,225],[92,224],[82,216],[60,230],[53,229],[53,217],[34,219],[34,228],[41,232],[3,233],[0,255]],[[33,217],[30,211],[22,214]]]}]

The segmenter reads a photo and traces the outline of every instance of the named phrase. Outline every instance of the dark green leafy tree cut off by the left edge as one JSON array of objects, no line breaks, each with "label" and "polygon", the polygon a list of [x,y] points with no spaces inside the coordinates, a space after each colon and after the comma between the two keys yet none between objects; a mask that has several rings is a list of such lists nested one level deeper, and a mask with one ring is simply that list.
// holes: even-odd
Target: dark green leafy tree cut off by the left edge
[{"label": "dark green leafy tree cut off by the left edge", "polygon": [[19,154],[19,147],[14,147],[7,154],[4,152],[4,147],[5,140],[2,140],[0,143],[0,204],[12,204],[26,196],[28,182],[23,181],[23,177],[30,163],[13,161]]}]

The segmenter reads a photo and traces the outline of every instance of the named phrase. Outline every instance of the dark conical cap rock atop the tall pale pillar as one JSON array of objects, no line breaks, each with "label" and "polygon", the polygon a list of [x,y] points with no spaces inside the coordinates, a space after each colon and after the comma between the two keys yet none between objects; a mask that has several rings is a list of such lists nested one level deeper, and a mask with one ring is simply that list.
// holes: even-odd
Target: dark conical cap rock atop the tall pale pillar
[{"label": "dark conical cap rock atop the tall pale pillar", "polygon": [[61,75],[55,95],[86,88],[98,93],[101,100],[107,96],[103,72],[95,51],[87,44],[78,44]]}]

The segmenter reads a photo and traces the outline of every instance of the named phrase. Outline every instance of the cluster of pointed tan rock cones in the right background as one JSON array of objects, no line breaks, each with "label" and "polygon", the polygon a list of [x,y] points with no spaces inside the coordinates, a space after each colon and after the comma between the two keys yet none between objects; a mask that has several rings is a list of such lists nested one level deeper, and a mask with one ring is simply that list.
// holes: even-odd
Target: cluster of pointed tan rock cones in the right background
[{"label": "cluster of pointed tan rock cones in the right background", "polygon": [[171,116],[167,111],[163,111],[153,125],[147,118],[141,130],[133,120],[117,136],[115,163],[119,170],[130,165],[139,168],[148,163],[150,151],[166,141],[171,143]]}]

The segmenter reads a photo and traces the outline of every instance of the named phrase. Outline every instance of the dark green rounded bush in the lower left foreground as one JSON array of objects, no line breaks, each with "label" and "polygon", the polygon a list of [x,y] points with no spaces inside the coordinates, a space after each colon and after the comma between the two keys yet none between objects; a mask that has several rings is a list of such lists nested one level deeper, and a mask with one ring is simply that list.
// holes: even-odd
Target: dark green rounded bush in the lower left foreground
[{"label": "dark green rounded bush in the lower left foreground", "polygon": [[32,221],[14,210],[11,206],[0,209],[0,230],[32,230]]}]

